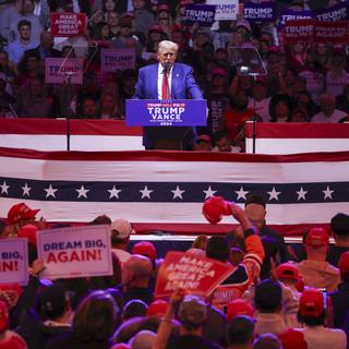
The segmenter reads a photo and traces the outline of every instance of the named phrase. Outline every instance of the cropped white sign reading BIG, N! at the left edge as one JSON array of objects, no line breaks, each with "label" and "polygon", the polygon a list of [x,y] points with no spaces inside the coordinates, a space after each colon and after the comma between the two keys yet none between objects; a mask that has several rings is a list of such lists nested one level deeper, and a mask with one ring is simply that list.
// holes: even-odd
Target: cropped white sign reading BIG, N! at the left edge
[{"label": "cropped white sign reading BIG, N! at the left edge", "polygon": [[1,239],[0,284],[28,282],[28,240],[25,238]]}]

